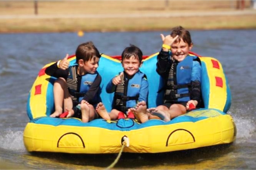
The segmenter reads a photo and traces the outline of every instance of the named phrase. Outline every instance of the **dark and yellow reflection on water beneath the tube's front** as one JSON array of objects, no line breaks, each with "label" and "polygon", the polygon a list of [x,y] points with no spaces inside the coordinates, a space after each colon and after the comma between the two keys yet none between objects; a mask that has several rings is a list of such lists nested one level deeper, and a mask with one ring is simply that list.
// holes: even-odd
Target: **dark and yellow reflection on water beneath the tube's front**
[{"label": "dark and yellow reflection on water beneath the tube's front", "polygon": [[[230,145],[219,145],[201,149],[159,154],[123,153],[115,168],[136,169],[223,169],[236,161],[229,153]],[[104,169],[117,157],[117,154],[63,154],[35,152],[25,154],[20,159],[27,166],[37,169]],[[192,159],[193,158],[193,159]],[[218,163],[216,163],[216,160]],[[228,161],[227,161],[228,160]],[[242,165],[237,165],[238,168]]]}]

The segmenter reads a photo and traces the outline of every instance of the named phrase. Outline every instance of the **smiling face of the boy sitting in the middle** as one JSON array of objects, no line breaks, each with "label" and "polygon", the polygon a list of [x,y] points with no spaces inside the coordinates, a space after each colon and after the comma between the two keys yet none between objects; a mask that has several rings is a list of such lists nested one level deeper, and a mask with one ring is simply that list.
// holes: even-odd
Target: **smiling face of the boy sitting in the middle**
[{"label": "smiling face of the boy sitting in the middle", "polygon": [[131,56],[129,59],[123,59],[122,65],[126,74],[134,75],[136,72],[138,72],[142,62],[140,63],[135,56]]}]

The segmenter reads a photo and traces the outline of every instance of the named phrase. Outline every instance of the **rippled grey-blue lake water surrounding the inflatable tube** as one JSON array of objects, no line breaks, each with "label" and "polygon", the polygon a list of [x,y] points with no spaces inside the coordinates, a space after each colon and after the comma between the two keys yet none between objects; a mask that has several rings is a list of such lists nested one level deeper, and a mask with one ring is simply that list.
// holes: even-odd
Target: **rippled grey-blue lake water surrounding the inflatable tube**
[{"label": "rippled grey-blue lake water surrounding the inflatable tube", "polygon": [[[27,152],[23,130],[29,119],[27,96],[43,65],[74,54],[78,44],[93,41],[100,52],[116,56],[129,44],[144,55],[161,48],[160,33],[0,34],[0,169],[102,169],[117,154],[76,155]],[[125,154],[117,169],[256,169],[256,30],[191,31],[193,52],[218,59],[228,77],[237,127],[236,141],[225,147],[165,154]]]}]

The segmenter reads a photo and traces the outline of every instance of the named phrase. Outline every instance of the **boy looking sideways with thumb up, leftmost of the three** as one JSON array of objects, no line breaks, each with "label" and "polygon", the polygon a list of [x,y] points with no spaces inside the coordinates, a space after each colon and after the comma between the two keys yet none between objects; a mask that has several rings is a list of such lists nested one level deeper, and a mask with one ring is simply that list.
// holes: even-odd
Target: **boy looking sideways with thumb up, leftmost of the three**
[{"label": "boy looking sideways with thumb up, leftmost of the three", "polygon": [[88,122],[98,117],[93,105],[98,103],[101,76],[96,70],[101,55],[91,41],[80,44],[75,54],[75,65],[69,65],[67,54],[45,70],[47,75],[57,78],[53,85],[55,112],[50,117],[59,117],[65,108],[66,117]]}]

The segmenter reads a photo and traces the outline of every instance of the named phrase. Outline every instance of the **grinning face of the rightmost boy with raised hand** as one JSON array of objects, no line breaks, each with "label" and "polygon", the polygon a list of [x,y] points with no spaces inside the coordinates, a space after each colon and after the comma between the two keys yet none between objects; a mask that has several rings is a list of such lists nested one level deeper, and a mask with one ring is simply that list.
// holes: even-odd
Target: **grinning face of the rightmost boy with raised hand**
[{"label": "grinning face of the rightmost boy with raised hand", "polygon": [[172,57],[179,62],[184,60],[188,56],[188,52],[192,49],[193,44],[189,46],[188,43],[185,43],[183,39],[180,42],[173,43],[171,45]]}]

